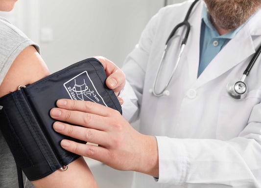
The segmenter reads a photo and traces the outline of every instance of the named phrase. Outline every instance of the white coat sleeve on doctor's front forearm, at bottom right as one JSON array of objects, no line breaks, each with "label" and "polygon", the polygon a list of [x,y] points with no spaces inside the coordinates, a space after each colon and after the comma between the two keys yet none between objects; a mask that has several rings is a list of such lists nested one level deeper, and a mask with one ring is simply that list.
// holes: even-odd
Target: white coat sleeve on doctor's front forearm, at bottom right
[{"label": "white coat sleeve on doctor's front forearm, at bottom right", "polygon": [[228,141],[157,137],[159,183],[189,188],[261,187],[261,104]]}]

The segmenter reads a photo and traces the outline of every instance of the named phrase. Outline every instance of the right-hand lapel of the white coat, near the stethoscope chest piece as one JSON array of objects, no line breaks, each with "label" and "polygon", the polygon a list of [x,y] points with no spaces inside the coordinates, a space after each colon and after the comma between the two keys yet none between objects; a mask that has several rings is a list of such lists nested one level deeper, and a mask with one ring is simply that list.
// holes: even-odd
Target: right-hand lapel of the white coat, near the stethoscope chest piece
[{"label": "right-hand lapel of the white coat, near the stethoscope chest piece", "polygon": [[219,77],[238,63],[244,62],[244,60],[256,52],[252,36],[261,35],[260,17],[261,11],[256,13],[237,35],[224,46],[199,76],[195,82],[195,87],[199,87]]}]

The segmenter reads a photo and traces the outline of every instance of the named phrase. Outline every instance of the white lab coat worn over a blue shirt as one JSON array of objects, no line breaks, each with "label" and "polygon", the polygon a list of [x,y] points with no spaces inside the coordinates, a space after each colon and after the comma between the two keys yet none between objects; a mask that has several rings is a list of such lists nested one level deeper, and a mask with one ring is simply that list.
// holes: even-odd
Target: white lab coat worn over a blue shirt
[{"label": "white lab coat worn over a blue shirt", "polygon": [[[187,46],[167,88],[170,95],[158,98],[149,93],[166,39],[184,20],[191,2],[161,9],[147,24],[122,68],[131,85],[126,84],[121,93],[123,115],[130,120],[138,109],[140,131],[157,136],[159,148],[159,181],[136,174],[133,188],[260,187],[261,58],[246,79],[249,91],[245,99],[231,98],[226,85],[242,77],[261,45],[261,11],[197,78],[204,3],[199,1],[190,15]],[[183,33],[180,29],[178,35]],[[157,91],[167,82],[182,38],[172,40]]]}]

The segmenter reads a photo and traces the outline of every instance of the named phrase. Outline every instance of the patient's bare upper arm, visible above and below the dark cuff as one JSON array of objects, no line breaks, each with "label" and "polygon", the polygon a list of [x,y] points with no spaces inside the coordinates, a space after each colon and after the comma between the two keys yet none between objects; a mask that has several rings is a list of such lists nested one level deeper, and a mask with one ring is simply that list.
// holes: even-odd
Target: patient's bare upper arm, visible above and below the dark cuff
[{"label": "patient's bare upper arm, visible above and below the dark cuff", "polygon": [[[28,46],[15,59],[0,85],[0,97],[17,90],[19,85],[32,84],[48,75],[39,53],[33,46]],[[97,188],[93,174],[82,157],[68,167],[66,171],[58,169],[32,183],[36,188]]]}]

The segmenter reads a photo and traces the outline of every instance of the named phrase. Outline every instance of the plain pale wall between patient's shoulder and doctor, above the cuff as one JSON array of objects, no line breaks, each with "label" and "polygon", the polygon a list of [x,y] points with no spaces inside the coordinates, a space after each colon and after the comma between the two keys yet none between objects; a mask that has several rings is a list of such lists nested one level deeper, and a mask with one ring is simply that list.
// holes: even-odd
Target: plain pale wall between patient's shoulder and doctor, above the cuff
[{"label": "plain pale wall between patient's shoulder and doctor, above the cuff", "polygon": [[121,66],[163,0],[40,0],[40,41],[51,72],[102,55]]}]

